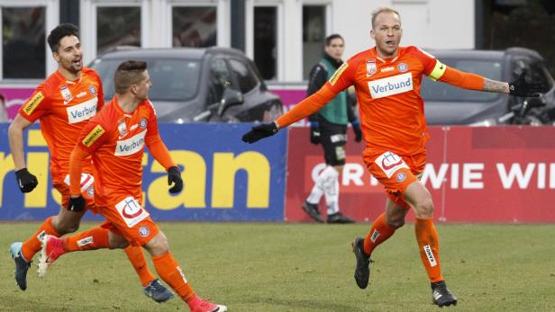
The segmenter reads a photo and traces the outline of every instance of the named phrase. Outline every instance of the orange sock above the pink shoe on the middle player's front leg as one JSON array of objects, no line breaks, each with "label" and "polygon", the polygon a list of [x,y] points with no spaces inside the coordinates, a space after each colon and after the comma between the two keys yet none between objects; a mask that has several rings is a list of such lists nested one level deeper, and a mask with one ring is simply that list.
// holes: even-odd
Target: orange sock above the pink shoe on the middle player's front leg
[{"label": "orange sock above the pink shoe on the middle player's front leg", "polygon": [[189,286],[185,274],[181,271],[179,263],[170,252],[152,256],[152,262],[159,277],[164,280],[181,299],[187,301],[195,298],[195,291]]}]

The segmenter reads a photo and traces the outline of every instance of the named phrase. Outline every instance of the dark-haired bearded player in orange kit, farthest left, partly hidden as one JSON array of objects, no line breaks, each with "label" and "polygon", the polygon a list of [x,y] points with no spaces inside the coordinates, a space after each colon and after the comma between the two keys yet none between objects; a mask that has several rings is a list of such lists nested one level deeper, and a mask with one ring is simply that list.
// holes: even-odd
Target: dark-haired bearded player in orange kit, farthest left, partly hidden
[{"label": "dark-haired bearded player in orange kit, farthest left, partly hidden", "polygon": [[[62,208],[58,216],[47,218],[41,227],[24,243],[10,247],[15,261],[15,281],[21,290],[27,289],[27,271],[32,257],[41,249],[45,235],[63,236],[75,232],[86,209],[66,209],[69,198],[69,156],[77,143],[87,120],[104,106],[104,93],[100,76],[94,69],[83,67],[83,52],[77,26],[60,24],[50,32],[48,43],[58,70],[50,75],[24,103],[8,132],[17,183],[22,192],[32,192],[37,178],[29,173],[23,154],[23,129],[34,121],[41,121],[42,136],[50,149],[50,176],[52,184],[62,195]],[[94,181],[90,158],[83,161],[83,191],[92,193]],[[94,201],[86,194],[86,208],[95,210]],[[130,247],[125,253],[141,278],[144,292],[161,302],[173,294],[152,275],[141,248]]]}]

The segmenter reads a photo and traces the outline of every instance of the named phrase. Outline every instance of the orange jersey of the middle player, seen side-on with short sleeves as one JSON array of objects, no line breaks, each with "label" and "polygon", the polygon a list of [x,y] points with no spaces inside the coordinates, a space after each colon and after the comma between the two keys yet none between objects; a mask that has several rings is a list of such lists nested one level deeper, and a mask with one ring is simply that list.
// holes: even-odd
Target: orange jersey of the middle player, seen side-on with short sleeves
[{"label": "orange jersey of the middle player, seen side-on with short sleeves", "polygon": [[[114,97],[86,124],[77,147],[93,157],[97,206],[130,195],[141,198],[144,145],[158,142],[158,123],[150,101],[126,113]],[[71,184],[73,190],[73,181]]]}]

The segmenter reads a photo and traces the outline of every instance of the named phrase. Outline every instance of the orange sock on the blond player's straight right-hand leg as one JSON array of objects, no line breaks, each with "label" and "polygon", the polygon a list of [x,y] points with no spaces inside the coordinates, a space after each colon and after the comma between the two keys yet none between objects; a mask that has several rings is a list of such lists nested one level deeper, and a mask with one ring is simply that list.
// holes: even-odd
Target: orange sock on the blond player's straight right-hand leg
[{"label": "orange sock on the blond player's straight right-hand leg", "polygon": [[433,226],[433,218],[416,218],[414,231],[420,247],[420,257],[430,281],[443,281],[440,268],[440,239]]}]

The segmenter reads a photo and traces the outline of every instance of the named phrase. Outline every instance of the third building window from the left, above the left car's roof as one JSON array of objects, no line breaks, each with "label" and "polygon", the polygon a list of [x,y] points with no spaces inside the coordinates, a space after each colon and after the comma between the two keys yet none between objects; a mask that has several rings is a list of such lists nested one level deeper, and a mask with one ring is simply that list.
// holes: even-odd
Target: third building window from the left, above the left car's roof
[{"label": "third building window from the left, above the left car's roof", "polygon": [[217,42],[215,6],[173,6],[172,45],[211,47]]}]

